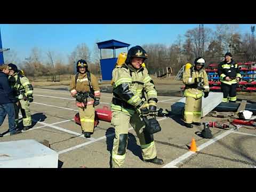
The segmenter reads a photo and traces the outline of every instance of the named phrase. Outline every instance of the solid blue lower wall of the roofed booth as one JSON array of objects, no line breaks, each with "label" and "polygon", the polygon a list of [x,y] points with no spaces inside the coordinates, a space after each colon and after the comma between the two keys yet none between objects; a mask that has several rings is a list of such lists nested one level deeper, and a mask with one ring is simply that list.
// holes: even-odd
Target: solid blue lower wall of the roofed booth
[{"label": "solid blue lower wall of the roofed booth", "polygon": [[102,81],[110,81],[112,78],[112,70],[115,68],[117,58],[101,59],[101,75]]}]

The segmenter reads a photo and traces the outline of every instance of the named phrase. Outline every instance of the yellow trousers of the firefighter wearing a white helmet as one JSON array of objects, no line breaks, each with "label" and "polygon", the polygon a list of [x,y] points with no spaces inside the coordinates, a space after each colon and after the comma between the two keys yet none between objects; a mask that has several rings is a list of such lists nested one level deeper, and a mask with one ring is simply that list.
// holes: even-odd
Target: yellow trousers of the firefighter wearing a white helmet
[{"label": "yellow trousers of the firefighter wearing a white helmet", "polygon": [[201,121],[202,98],[195,99],[193,97],[186,97],[184,109],[185,123],[200,123]]}]

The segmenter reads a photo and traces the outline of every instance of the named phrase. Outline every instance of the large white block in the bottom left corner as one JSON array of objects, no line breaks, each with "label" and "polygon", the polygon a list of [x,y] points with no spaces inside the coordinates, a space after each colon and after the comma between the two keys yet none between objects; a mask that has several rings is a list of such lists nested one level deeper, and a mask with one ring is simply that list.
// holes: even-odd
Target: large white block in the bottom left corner
[{"label": "large white block in the bottom left corner", "polygon": [[58,168],[59,154],[36,140],[0,142],[0,168]]}]

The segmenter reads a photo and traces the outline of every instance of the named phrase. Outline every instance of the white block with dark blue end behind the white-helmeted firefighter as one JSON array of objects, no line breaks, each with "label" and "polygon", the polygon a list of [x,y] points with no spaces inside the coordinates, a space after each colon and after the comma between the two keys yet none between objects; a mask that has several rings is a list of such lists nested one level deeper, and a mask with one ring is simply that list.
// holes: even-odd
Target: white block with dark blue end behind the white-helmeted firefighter
[{"label": "white block with dark blue end behind the white-helmeted firefighter", "polygon": [[[207,98],[203,97],[202,100],[202,117],[209,114],[215,107],[222,102],[223,93],[210,92]],[[185,107],[186,97],[183,97],[179,101],[175,102],[171,106],[171,111],[175,115],[182,115],[182,111]]]}]

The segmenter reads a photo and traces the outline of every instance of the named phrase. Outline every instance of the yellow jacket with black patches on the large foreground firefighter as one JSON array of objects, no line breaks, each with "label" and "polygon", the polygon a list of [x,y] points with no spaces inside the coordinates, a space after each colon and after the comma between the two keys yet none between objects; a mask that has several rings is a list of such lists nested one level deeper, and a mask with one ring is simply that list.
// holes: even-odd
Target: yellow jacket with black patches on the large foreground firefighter
[{"label": "yellow jacket with black patches on the large foreground firefighter", "polygon": [[112,71],[113,100],[111,110],[133,115],[145,99],[157,102],[157,91],[145,67],[134,69],[125,63]]}]

